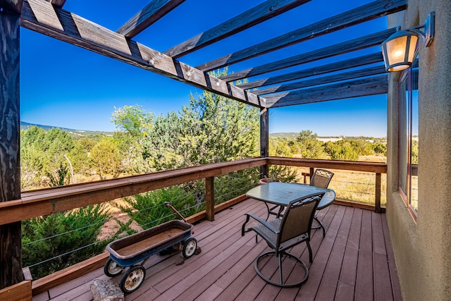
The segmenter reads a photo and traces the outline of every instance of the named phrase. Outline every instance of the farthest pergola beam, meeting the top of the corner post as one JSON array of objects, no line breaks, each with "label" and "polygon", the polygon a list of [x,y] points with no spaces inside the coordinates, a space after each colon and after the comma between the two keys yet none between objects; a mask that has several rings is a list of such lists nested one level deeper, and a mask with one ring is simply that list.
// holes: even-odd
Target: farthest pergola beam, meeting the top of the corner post
[{"label": "farthest pergola beam, meeting the top of the corner post", "polygon": [[295,104],[310,104],[313,102],[327,102],[336,99],[385,94],[387,91],[387,75],[381,75],[322,87],[271,94],[266,97],[266,105],[276,108],[278,106],[293,106]]}]

